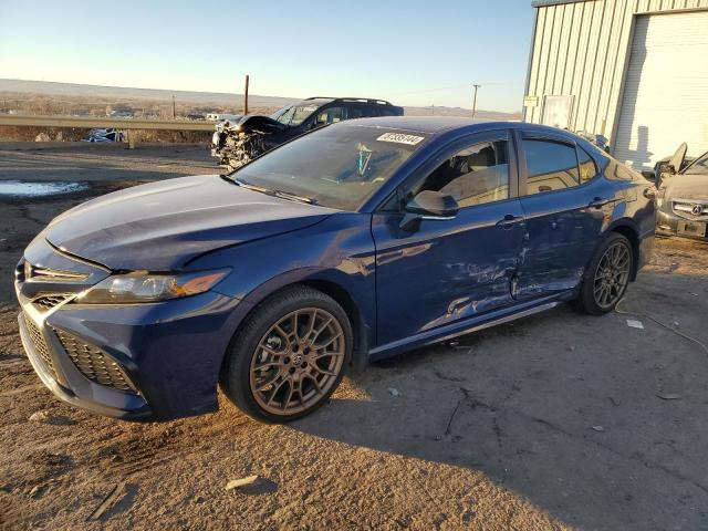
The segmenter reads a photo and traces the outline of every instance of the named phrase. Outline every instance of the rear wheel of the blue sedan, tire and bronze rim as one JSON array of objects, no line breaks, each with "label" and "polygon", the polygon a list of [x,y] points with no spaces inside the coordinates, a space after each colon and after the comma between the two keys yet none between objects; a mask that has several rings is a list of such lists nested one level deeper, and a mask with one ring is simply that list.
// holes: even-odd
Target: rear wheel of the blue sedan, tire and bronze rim
[{"label": "rear wheel of the blue sedan, tire and bronze rim", "polygon": [[613,311],[627,290],[634,260],[629,240],[612,232],[587,266],[573,306],[591,315]]}]

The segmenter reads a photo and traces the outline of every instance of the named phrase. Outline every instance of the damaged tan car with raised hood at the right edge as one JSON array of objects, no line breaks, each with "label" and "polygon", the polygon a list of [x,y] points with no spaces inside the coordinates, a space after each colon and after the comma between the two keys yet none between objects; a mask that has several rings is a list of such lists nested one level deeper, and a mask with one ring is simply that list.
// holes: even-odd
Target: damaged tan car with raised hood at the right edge
[{"label": "damaged tan car with raised hood at the right edge", "polygon": [[687,147],[645,175],[656,179],[656,232],[708,241],[708,152],[686,164]]}]

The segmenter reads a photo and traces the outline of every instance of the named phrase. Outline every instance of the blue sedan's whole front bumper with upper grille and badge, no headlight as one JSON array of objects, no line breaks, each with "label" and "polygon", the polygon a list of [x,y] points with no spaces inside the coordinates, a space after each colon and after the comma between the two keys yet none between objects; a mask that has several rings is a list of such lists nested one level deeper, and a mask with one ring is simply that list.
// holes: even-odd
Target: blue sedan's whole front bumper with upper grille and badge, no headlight
[{"label": "blue sedan's whole front bumper with upper grille and badge, no headlight", "polygon": [[[83,277],[67,279],[66,272]],[[110,271],[42,238],[28,247],[15,274],[22,344],[59,398],[135,420],[217,409],[223,355],[248,304],[215,291],[147,304],[79,304],[75,296]]]}]

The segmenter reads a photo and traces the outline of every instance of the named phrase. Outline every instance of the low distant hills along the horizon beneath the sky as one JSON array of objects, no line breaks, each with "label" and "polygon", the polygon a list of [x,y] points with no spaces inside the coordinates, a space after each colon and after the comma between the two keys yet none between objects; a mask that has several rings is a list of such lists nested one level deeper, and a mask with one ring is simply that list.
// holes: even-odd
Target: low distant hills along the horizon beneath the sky
[{"label": "low distant hills along the horizon beneath the sky", "polygon": [[[2,80],[0,79],[0,94],[33,94],[43,96],[64,97],[97,97],[115,100],[142,100],[154,102],[171,101],[173,96],[178,102],[195,105],[215,105],[228,107],[241,107],[243,94],[229,94],[223,92],[192,92],[192,91],[166,91],[162,88],[133,88],[124,86],[82,85],[75,83],[55,83],[49,81]],[[364,94],[366,97],[375,97],[375,94]],[[280,108],[296,102],[298,97],[260,96],[249,94],[249,107]],[[396,103],[396,102],[392,102]],[[460,107],[410,107],[406,106],[405,114],[410,116],[470,116],[471,110]],[[477,117],[481,119],[521,119],[521,113],[501,113],[496,111],[477,111]]]}]

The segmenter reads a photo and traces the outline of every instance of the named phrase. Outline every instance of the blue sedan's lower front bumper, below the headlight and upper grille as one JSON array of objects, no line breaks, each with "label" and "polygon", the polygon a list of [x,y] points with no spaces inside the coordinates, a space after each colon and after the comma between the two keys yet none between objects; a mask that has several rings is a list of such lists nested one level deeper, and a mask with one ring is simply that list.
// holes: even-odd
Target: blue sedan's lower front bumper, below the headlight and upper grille
[{"label": "blue sedan's lower front bumper, below the headlight and upper grille", "polygon": [[[219,369],[237,304],[214,292],[154,304],[67,303],[45,314],[29,303],[18,321],[34,371],[62,400],[111,417],[168,420],[217,409]],[[101,366],[87,372],[77,364],[66,334],[79,352],[100,352]],[[107,364],[119,367],[129,387],[122,381],[116,387],[106,376]]]}]

